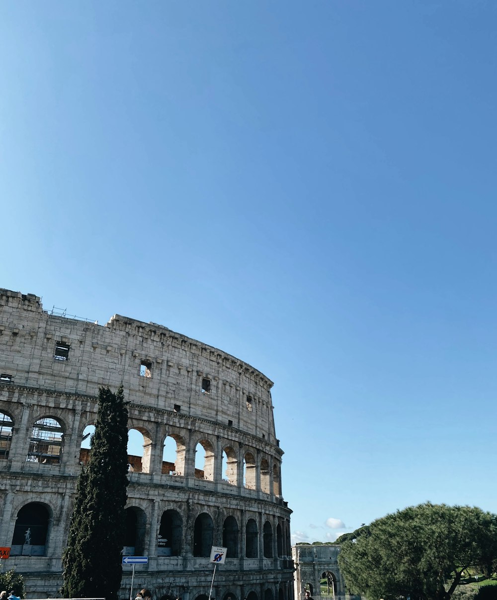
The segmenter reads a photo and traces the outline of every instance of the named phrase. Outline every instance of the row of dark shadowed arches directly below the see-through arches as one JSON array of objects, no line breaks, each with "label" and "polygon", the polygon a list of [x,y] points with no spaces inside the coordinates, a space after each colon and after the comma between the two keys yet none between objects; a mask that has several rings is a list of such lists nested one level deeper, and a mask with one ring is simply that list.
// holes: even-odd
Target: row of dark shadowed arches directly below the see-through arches
[{"label": "row of dark shadowed arches directly below the see-through arches", "polygon": [[[143,555],[147,545],[147,518],[143,509],[129,506],[125,510],[125,539],[123,553]],[[51,512],[41,502],[29,502],[23,505],[16,516],[16,524],[11,542],[11,553],[41,555],[46,553],[49,538]],[[156,539],[157,556],[183,556],[191,553],[194,557],[209,557],[213,545],[221,544],[228,548],[227,558],[267,559],[281,558],[288,554],[285,538],[289,532],[284,530],[285,523],[277,523],[276,528],[269,518],[264,519],[262,531],[257,521],[248,518],[240,524],[234,515],[228,515],[222,530],[216,531],[212,516],[201,512],[194,520],[193,526],[183,523],[179,511],[167,509],[162,512]],[[188,545],[189,548],[185,546]]]}]

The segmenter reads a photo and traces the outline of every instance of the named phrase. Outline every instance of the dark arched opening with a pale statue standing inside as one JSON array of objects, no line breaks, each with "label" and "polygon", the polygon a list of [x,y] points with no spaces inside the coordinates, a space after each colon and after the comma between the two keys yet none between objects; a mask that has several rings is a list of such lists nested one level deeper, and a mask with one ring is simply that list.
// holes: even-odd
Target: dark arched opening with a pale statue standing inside
[{"label": "dark arched opening with a pale statue standing inside", "polygon": [[11,554],[45,556],[49,523],[49,509],[40,502],[30,502],[20,508],[14,526]]}]

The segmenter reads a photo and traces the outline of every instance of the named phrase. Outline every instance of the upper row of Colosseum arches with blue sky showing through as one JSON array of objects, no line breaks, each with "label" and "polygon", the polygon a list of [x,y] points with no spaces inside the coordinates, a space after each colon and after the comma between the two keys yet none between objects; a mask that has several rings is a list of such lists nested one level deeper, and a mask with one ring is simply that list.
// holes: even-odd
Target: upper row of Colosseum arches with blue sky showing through
[{"label": "upper row of Colosseum arches with blue sky showing through", "polygon": [[[80,463],[86,464],[91,452],[94,425],[83,430],[80,446]],[[10,457],[14,432],[14,421],[8,413],[0,412],[0,460]],[[64,425],[53,416],[44,416],[35,421],[29,437],[26,461],[41,464],[61,464],[64,451]],[[152,472],[153,442],[144,428],[132,428],[128,432],[128,463],[132,472]],[[194,458],[190,458],[191,454]],[[183,476],[190,472],[197,479],[238,485],[249,490],[260,490],[267,494],[281,495],[280,466],[270,457],[257,457],[257,451],[236,448],[233,443],[212,442],[209,436],[199,436],[195,447],[189,451],[185,438],[179,433],[170,433],[162,444],[161,473]],[[193,462],[194,468],[189,467]],[[219,464],[218,464],[219,463]]]}]

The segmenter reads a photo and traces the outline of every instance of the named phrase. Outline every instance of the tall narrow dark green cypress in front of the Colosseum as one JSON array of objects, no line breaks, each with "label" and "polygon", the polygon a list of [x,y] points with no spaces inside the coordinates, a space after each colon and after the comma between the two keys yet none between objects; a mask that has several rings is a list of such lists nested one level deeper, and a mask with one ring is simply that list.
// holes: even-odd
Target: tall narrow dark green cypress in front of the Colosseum
[{"label": "tall narrow dark green cypress in front of the Colosseum", "polygon": [[122,578],[124,506],[128,485],[128,408],[123,388],[98,391],[88,467],[78,478],[67,548],[65,598],[117,600]]}]

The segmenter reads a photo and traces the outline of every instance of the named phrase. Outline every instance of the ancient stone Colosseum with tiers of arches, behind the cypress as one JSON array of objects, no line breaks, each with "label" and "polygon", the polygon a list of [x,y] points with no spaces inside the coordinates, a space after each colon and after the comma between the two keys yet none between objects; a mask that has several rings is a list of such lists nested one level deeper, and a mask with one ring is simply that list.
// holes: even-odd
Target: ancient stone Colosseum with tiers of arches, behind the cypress
[{"label": "ancient stone Colosseum with tiers of arches, behind the cypress", "polygon": [[[212,545],[227,548],[219,600],[293,600],[273,383],[222,350],[118,314],[106,325],[0,289],[0,547],[28,598],[58,596],[76,478],[99,386],[129,401],[123,553],[133,592],[207,600]],[[95,548],[98,554],[98,548]],[[132,567],[123,566],[121,598]],[[134,596],[133,596],[134,597]]]}]

